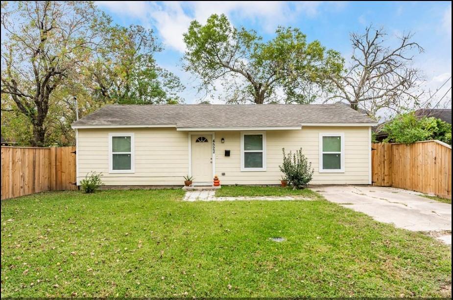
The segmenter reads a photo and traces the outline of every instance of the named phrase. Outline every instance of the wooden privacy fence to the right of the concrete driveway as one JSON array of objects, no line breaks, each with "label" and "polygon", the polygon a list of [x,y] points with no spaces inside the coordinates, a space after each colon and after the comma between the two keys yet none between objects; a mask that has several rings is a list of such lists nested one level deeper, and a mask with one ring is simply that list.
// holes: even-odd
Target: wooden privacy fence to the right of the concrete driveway
[{"label": "wooden privacy fence to the right of the concrete driveway", "polygon": [[372,144],[373,185],[452,198],[452,147],[438,140]]}]

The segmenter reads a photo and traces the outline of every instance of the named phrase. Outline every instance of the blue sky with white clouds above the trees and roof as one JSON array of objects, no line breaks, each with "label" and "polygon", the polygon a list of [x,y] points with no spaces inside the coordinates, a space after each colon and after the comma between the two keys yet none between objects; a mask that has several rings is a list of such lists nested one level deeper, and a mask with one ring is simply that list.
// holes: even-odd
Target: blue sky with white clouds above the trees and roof
[{"label": "blue sky with white clouds above the trees and roof", "polygon": [[[158,64],[180,77],[186,90],[181,94],[188,104],[204,100],[196,78],[182,69],[185,45],[183,33],[192,20],[206,23],[213,14],[224,13],[236,26],[255,29],[264,40],[275,36],[277,26],[298,27],[309,41],[319,40],[348,59],[351,32],[363,32],[367,25],[383,27],[389,43],[403,32],[412,32],[413,41],[425,51],[414,58],[422,70],[423,87],[435,92],[431,99],[439,107],[451,108],[452,2],[451,1],[96,1],[97,6],[120,25],[140,24],[152,28],[164,50],[156,55]],[[321,100],[318,100],[321,101]],[[211,101],[214,102],[215,101]]]}]

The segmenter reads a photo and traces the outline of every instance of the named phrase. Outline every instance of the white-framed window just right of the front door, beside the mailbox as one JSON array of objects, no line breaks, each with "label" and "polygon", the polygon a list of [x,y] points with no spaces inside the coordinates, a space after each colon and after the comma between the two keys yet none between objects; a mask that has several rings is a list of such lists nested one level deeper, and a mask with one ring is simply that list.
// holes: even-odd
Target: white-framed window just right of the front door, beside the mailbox
[{"label": "white-framed window just right of the front door, beside the mailbox", "polygon": [[266,170],[266,134],[251,132],[240,134],[240,170]]}]

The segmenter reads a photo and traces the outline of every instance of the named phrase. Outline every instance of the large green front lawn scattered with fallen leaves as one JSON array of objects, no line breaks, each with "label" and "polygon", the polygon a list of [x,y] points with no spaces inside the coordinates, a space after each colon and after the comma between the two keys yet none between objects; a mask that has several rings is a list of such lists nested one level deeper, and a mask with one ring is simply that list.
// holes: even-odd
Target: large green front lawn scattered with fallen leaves
[{"label": "large green front lawn scattered with fallen leaves", "polygon": [[451,297],[450,248],[421,233],[322,198],[182,196],[72,191],[2,201],[1,297]]}]

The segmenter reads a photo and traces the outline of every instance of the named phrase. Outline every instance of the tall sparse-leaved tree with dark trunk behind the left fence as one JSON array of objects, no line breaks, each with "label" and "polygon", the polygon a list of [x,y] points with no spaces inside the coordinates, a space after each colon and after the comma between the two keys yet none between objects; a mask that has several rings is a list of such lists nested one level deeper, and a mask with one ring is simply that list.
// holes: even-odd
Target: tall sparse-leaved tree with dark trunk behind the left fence
[{"label": "tall sparse-leaved tree with dark trunk behind the left fence", "polygon": [[52,93],[91,58],[109,22],[93,2],[1,2],[1,93],[31,123],[33,146],[46,144]]}]

